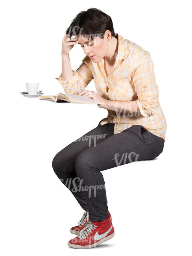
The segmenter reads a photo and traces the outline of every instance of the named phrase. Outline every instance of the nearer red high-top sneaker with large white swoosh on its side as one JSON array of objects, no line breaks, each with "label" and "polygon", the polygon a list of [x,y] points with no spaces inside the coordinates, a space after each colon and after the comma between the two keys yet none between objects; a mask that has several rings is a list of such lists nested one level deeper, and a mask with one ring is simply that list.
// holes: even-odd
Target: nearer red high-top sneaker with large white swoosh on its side
[{"label": "nearer red high-top sneaker with large white swoosh on its side", "polygon": [[68,245],[76,249],[96,247],[114,236],[114,228],[110,216],[105,221],[87,221],[85,228],[78,236],[68,241]]}]

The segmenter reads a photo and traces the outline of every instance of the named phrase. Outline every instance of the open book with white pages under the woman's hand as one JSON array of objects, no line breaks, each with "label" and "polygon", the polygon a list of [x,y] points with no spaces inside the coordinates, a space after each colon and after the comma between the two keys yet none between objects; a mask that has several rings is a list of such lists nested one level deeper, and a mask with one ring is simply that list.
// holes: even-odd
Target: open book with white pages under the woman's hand
[{"label": "open book with white pages under the woman's hand", "polygon": [[40,100],[50,99],[50,100],[54,100],[54,102],[67,101],[70,103],[81,103],[81,104],[98,104],[98,105],[105,104],[103,102],[99,102],[96,100],[92,100],[91,98],[87,98],[86,96],[83,96],[83,95],[64,94],[64,93],[59,93],[56,96],[41,95],[39,99]]}]

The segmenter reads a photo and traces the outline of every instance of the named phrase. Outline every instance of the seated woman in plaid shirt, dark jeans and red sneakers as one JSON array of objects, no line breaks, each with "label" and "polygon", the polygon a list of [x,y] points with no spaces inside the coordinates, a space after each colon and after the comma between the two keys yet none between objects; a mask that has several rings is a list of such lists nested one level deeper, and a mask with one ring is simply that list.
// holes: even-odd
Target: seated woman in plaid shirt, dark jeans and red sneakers
[{"label": "seated woman in plaid shirt, dark jeans and red sneakers", "polygon": [[[76,36],[72,38],[73,36]],[[69,51],[77,43],[86,56],[79,68],[70,66]],[[159,104],[150,53],[114,33],[109,15],[96,8],[80,12],[62,42],[62,73],[56,78],[65,93],[103,102],[108,111],[98,126],[63,148],[53,169],[85,210],[73,248],[91,248],[114,236],[101,171],[151,160],[161,154],[166,120]],[[85,90],[94,79],[96,91]]]}]

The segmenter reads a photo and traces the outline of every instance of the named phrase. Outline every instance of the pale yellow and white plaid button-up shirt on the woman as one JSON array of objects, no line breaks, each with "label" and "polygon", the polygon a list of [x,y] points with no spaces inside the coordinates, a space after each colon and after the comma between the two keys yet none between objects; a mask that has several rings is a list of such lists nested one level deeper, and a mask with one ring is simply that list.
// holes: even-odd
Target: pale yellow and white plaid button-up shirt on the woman
[{"label": "pale yellow and white plaid button-up shirt on the woman", "polygon": [[123,102],[136,100],[140,113],[107,110],[108,115],[101,125],[114,123],[114,134],[117,134],[139,124],[165,141],[167,125],[159,103],[159,89],[150,52],[118,33],[115,37],[118,39],[118,53],[115,54],[114,69],[109,76],[104,69],[104,59],[94,63],[86,55],[78,69],[73,70],[72,79],[65,81],[61,74],[55,79],[61,83],[65,93],[77,95],[94,79],[96,91],[103,98]]}]

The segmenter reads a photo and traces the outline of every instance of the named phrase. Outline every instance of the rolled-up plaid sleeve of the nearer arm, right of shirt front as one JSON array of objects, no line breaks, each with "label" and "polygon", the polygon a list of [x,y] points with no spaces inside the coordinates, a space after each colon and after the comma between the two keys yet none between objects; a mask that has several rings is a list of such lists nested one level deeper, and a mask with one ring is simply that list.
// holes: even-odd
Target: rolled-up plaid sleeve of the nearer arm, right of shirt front
[{"label": "rolled-up plaid sleeve of the nearer arm, right of shirt front", "polygon": [[159,106],[159,89],[155,82],[150,55],[134,70],[132,84],[138,97],[136,102],[141,115],[144,117],[154,115]]}]

